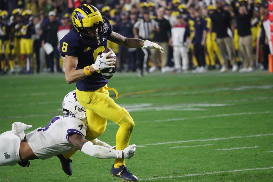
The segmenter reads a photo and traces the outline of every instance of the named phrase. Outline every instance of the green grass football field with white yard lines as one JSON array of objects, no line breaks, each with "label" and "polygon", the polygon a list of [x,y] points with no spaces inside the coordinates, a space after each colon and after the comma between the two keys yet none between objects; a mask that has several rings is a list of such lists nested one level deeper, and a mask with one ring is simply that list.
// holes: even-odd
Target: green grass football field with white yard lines
[{"label": "green grass football field with white yard lines", "polygon": [[[0,133],[15,121],[33,125],[27,132],[46,126],[75,89],[64,75],[1,76],[0,82]],[[273,74],[122,73],[109,87],[135,121],[130,144],[137,145],[136,155],[126,164],[141,181],[273,180]],[[99,139],[115,145],[117,129],[108,121]],[[70,178],[53,157],[28,168],[1,167],[0,181],[121,181],[110,176],[111,159],[80,151],[72,159]]]}]

